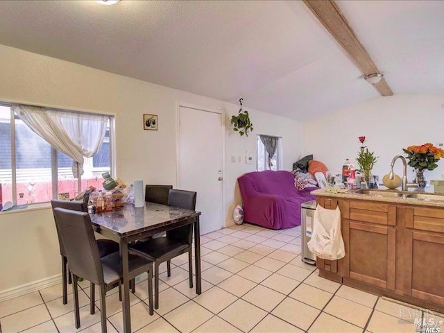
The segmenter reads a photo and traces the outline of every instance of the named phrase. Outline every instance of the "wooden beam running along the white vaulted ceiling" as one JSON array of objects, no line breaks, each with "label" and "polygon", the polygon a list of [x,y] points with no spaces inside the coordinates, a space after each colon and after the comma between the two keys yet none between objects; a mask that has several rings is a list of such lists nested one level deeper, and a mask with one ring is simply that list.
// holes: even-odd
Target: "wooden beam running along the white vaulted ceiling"
[{"label": "wooden beam running along the white vaulted ceiling", "polygon": [[[327,31],[334,37],[345,53],[355,62],[364,76],[380,73],[375,62],[368,54],[364,45],[343,17],[336,3],[332,0],[303,0],[314,16],[321,22]],[[393,92],[388,87],[384,78],[374,85],[382,96],[392,96]]]}]

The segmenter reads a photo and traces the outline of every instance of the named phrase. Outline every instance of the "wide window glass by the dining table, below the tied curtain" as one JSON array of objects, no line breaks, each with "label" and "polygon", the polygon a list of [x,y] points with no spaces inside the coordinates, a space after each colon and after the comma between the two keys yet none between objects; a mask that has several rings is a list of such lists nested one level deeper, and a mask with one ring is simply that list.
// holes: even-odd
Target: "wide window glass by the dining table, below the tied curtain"
[{"label": "wide window glass by the dining table, below the tied curtain", "polygon": [[44,203],[53,198],[74,198],[86,187],[102,187],[101,173],[111,172],[112,124],[108,119],[98,153],[86,158],[83,175],[74,178],[73,160],[60,153],[19,119],[10,105],[0,105],[0,184],[3,203]]}]

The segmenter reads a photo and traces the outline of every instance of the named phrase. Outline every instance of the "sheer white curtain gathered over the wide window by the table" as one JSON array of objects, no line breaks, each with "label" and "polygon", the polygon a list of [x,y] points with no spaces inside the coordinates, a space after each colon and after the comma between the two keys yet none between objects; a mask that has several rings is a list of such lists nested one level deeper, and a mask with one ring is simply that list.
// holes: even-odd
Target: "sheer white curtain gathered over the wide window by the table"
[{"label": "sheer white curtain gathered over the wide window by the table", "polygon": [[31,105],[13,105],[12,110],[33,132],[74,160],[74,178],[83,174],[83,157],[92,157],[99,151],[108,123],[108,116],[101,114],[49,110]]}]

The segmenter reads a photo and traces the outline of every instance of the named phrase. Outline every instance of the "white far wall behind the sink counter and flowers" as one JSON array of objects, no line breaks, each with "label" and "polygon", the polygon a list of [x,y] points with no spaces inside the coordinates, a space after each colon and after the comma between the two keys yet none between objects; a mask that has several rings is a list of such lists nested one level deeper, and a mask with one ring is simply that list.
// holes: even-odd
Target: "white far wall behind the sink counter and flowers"
[{"label": "white far wall behind the sink counter and flowers", "polygon": [[[304,123],[304,151],[324,162],[331,171],[340,171],[345,157],[357,165],[358,137],[365,135],[366,145],[379,160],[373,174],[382,176],[390,171],[395,155],[402,148],[431,142],[444,143],[444,95],[395,95],[378,97],[350,106],[324,117]],[[413,178],[408,167],[407,176]],[[395,173],[402,176],[402,162],[397,161]],[[441,179],[444,161],[427,171],[427,178]]]}]

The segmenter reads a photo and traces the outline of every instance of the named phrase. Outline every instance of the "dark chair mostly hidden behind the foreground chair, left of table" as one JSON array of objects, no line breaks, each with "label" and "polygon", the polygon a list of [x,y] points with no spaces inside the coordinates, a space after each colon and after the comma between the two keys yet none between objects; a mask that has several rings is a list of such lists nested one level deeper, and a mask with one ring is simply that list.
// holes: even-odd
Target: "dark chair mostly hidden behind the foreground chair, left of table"
[{"label": "dark chair mostly hidden behind the foreground chair, left of table", "polygon": [[[76,212],[86,212],[87,207],[83,202],[80,201],[68,201],[68,200],[51,200],[51,206],[54,208],[65,208],[67,210],[74,210]],[[68,260],[65,253],[65,247],[63,246],[63,241],[60,238],[60,232],[58,230],[58,226],[56,224],[57,236],[58,236],[58,244],[60,248],[60,256],[62,257],[62,294],[63,294],[63,304],[67,304],[68,296],[67,296],[67,276],[69,279],[69,283],[71,284],[71,275],[68,270]],[[109,255],[110,253],[116,252],[119,250],[119,244],[110,239],[97,239],[97,246],[99,246],[99,254],[101,257],[105,257],[105,255]]]}]

